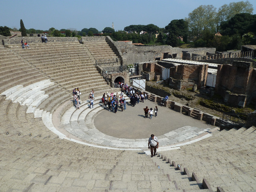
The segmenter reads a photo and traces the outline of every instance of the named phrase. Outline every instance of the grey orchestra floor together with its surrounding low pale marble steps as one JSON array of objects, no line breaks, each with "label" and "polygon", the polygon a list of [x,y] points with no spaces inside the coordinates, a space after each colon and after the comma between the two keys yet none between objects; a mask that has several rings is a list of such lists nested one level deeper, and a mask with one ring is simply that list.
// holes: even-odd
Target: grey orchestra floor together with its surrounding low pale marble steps
[{"label": "grey orchestra floor together with its surrounding low pale marble steps", "polygon": [[[117,113],[105,110],[95,98],[94,109],[89,108],[89,100],[80,110],[71,107],[64,113],[60,128],[67,130],[80,141],[106,147],[141,148],[148,145],[151,134],[158,137],[161,147],[186,141],[214,128],[202,121],[177,113],[166,107],[158,106],[158,116],[145,118],[145,106],[155,108],[155,103],[147,100],[132,107],[126,104],[126,110]],[[208,134],[207,136],[211,136]]]}]

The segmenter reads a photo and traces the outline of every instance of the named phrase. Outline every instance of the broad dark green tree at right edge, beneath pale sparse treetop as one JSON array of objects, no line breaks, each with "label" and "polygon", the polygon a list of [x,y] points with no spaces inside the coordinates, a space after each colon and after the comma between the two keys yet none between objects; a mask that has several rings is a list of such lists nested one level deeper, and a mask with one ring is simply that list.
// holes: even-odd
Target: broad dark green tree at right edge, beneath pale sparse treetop
[{"label": "broad dark green tree at right edge, beneath pale sparse treetop", "polygon": [[232,17],[228,21],[224,21],[220,24],[220,33],[222,35],[239,35],[241,38],[245,33],[250,32],[253,24],[256,20],[256,15],[249,13],[240,13]]}]

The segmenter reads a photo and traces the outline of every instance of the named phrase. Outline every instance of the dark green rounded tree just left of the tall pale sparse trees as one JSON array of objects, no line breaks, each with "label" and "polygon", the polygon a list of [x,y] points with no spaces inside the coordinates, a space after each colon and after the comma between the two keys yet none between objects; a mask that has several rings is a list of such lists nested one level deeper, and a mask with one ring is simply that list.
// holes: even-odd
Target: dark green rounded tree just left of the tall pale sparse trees
[{"label": "dark green rounded tree just left of the tall pale sparse trees", "polygon": [[175,31],[177,37],[182,36],[183,41],[187,42],[189,34],[189,23],[184,19],[172,20],[167,26],[165,26],[165,29],[168,31],[168,33]]}]

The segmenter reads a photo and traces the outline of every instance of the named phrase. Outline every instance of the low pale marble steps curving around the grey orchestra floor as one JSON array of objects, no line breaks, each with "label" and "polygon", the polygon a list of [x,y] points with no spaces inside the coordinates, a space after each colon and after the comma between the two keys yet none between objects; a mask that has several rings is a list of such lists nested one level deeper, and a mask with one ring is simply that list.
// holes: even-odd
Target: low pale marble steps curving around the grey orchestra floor
[{"label": "low pale marble steps curving around the grey orchestra floor", "polygon": [[[97,115],[101,110],[104,109],[104,107],[100,102],[101,102],[101,96],[98,96],[95,98],[95,103],[94,103],[95,107],[93,109],[89,108],[89,101],[82,104],[82,106],[80,107],[80,110],[76,110],[73,107],[68,109],[61,117],[61,125],[59,127],[66,129],[68,132],[72,133],[72,135],[75,135],[77,138],[85,140],[90,144],[94,144],[94,145],[116,147],[116,148],[128,148],[128,149],[147,148],[148,138],[144,138],[144,139],[116,138],[100,132],[95,127],[93,122],[95,115]],[[191,132],[193,131],[193,134],[185,135],[185,133],[186,134],[188,133],[187,132],[188,130]],[[176,149],[177,147],[182,146],[184,144],[196,142],[201,139],[210,137],[211,134],[207,133],[208,131],[209,129],[199,129],[191,126],[185,126],[185,127],[176,129],[175,131],[170,131],[164,135],[159,136],[161,137],[161,139],[159,139],[159,142],[168,140],[170,141],[170,144],[174,143],[171,141],[172,139],[172,137],[170,137],[171,135],[173,135],[173,138],[175,137],[179,142],[186,141],[198,135],[200,135],[200,137],[197,137],[195,140],[191,140],[183,143],[163,145],[159,148],[159,151]]]}]

